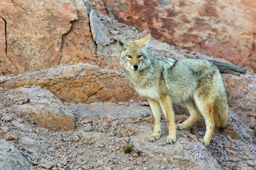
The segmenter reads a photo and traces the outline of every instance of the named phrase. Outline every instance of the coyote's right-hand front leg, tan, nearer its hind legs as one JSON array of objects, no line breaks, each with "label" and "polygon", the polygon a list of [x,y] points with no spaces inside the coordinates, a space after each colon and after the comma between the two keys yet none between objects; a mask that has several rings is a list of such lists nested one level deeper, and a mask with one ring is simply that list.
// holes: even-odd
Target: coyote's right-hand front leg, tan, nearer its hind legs
[{"label": "coyote's right-hand front leg, tan, nearer its hind legs", "polygon": [[172,109],[172,101],[169,95],[162,96],[159,103],[163,109],[164,116],[166,116],[167,125],[169,128],[169,135],[167,137],[167,143],[176,142],[176,127],[174,120],[174,111]]}]

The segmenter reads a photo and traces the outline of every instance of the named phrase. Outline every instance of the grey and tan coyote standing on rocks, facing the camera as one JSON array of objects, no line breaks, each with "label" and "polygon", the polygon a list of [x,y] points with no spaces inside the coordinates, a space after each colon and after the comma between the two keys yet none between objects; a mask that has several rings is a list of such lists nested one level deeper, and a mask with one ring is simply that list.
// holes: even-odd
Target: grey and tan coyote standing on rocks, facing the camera
[{"label": "grey and tan coyote standing on rocks, facing the camera", "polygon": [[[214,125],[224,128],[228,124],[228,103],[220,71],[201,59],[151,57],[148,53],[150,37],[148,34],[136,41],[118,37],[120,65],[135,90],[150,104],[154,117],[150,141],[160,137],[161,107],[169,130],[167,143],[176,142],[176,129],[188,128],[203,115],[206,133],[200,141],[209,145]],[[175,125],[173,102],[183,103],[190,113],[182,124]]]}]

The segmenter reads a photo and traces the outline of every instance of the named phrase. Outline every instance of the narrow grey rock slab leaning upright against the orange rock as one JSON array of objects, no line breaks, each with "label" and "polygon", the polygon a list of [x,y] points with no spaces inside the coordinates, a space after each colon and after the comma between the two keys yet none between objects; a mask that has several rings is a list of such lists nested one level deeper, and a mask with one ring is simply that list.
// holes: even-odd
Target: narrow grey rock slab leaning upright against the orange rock
[{"label": "narrow grey rock slab leaning upright against the orange rock", "polygon": [[108,31],[104,24],[101,22],[96,11],[90,11],[90,28],[92,31],[93,40],[96,42],[97,47],[102,49],[104,46],[110,44]]}]

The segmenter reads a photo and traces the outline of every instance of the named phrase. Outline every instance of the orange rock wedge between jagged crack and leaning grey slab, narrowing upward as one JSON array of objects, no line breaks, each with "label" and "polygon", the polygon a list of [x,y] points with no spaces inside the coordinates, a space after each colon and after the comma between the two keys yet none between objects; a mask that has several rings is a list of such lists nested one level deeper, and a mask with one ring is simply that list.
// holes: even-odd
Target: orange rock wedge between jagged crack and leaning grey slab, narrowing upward
[{"label": "orange rock wedge between jagged crack and leaning grey slab, narrowing upward", "polygon": [[82,0],[72,1],[77,10],[78,19],[72,22],[70,31],[63,36],[60,63],[82,62],[94,65],[103,63],[96,56],[97,46],[92,38],[89,24],[89,8]]}]

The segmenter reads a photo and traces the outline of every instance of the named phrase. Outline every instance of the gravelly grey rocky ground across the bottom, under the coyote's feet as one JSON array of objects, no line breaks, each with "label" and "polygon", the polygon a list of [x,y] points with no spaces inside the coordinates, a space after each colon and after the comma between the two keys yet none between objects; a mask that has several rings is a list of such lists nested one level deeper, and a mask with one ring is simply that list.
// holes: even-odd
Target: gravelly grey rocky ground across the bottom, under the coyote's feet
[{"label": "gravelly grey rocky ground across the bottom, under the coyote's feet", "polygon": [[[167,145],[164,118],[162,137],[149,142],[153,120],[145,102],[63,104],[38,86],[1,88],[0,100],[0,169],[254,169],[256,165],[253,143],[216,132],[204,147],[198,138],[205,131],[197,126],[177,131],[177,142]],[[39,114],[48,118],[37,120]],[[64,120],[53,124],[60,117]],[[177,115],[176,120],[181,118]],[[129,145],[133,151],[125,154],[123,148]]]}]

